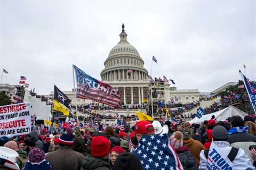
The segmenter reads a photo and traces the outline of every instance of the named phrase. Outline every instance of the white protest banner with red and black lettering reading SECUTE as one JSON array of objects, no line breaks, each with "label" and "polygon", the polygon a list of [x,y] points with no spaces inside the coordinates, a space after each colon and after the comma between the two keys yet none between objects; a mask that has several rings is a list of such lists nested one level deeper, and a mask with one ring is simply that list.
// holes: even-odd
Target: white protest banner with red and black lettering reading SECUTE
[{"label": "white protest banner with red and black lettering reading SECUTE", "polygon": [[28,134],[31,130],[31,104],[0,107],[0,137]]}]

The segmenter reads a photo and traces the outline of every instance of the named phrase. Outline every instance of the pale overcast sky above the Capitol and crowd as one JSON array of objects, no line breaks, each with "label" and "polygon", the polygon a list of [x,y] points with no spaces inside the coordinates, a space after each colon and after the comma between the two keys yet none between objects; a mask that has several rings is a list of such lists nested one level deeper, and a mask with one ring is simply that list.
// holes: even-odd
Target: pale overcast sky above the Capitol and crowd
[{"label": "pale overcast sky above the Capitol and crowd", "polygon": [[9,1],[1,3],[3,83],[20,75],[47,95],[56,84],[73,88],[72,64],[100,79],[103,62],[119,41],[137,48],[153,77],[178,89],[212,91],[247,77],[256,80],[256,1]]}]

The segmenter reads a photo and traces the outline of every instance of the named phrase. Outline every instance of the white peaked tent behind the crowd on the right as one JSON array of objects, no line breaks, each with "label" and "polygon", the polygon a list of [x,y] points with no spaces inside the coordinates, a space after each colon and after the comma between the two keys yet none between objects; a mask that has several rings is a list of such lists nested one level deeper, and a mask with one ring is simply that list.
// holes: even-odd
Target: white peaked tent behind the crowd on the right
[{"label": "white peaked tent behind the crowd on the right", "polygon": [[193,120],[189,121],[189,123],[193,124],[193,123],[202,123],[204,121],[209,121],[211,119],[212,115],[215,116],[215,119],[217,121],[225,121],[228,117],[231,117],[231,116],[238,115],[238,116],[241,116],[242,118],[244,118],[248,114],[244,113],[243,111],[239,110],[238,108],[236,108],[234,106],[228,106],[227,108],[222,109],[218,112],[203,115],[201,118],[195,117],[195,118],[193,118]]}]

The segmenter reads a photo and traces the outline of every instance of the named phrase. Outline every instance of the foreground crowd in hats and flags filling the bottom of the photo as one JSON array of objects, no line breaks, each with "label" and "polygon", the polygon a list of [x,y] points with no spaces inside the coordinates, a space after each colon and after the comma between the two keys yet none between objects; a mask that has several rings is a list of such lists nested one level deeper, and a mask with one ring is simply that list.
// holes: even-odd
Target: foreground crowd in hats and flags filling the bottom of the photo
[{"label": "foreground crowd in hats and flags filling the bottom of the photo", "polygon": [[61,133],[44,128],[1,137],[0,169],[255,169],[255,119],[139,121],[122,130],[63,126]]}]

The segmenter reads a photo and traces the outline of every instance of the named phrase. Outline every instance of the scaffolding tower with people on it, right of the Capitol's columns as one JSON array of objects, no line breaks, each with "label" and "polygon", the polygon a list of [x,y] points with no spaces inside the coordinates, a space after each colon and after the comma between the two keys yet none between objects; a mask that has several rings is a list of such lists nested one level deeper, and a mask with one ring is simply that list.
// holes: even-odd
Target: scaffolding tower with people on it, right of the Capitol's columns
[{"label": "scaffolding tower with people on it, right of the Capitol's columns", "polygon": [[147,113],[153,117],[154,120],[167,120],[165,88],[167,88],[167,86],[161,79],[155,79],[149,84]]}]

